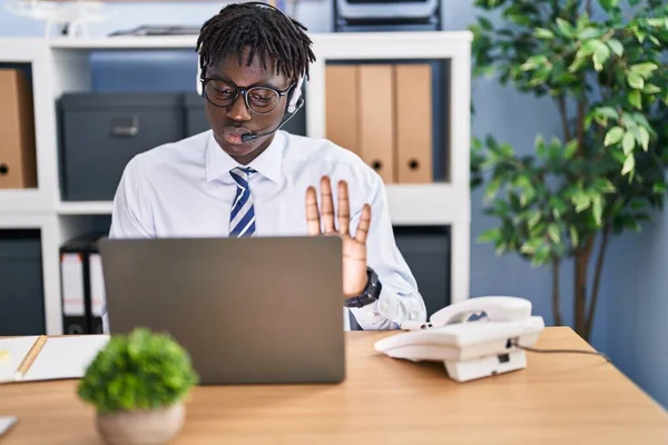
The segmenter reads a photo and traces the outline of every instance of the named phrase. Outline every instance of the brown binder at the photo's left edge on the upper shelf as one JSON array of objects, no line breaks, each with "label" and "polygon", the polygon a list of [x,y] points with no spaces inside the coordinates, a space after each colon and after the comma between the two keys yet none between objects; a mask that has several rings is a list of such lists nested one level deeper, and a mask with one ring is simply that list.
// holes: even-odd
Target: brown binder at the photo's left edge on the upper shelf
[{"label": "brown binder at the photo's left edge on the upper shelf", "polygon": [[0,69],[0,188],[37,187],[32,92],[19,69]]}]

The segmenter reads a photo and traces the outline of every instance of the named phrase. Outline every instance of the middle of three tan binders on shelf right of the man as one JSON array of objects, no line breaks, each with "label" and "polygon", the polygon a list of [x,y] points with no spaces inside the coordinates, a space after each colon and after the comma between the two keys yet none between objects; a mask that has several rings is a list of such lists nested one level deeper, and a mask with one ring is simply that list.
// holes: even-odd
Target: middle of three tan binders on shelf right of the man
[{"label": "middle of three tan binders on shelf right of the man", "polygon": [[396,181],[394,137],[394,69],[392,65],[360,66],[360,152],[383,178]]}]

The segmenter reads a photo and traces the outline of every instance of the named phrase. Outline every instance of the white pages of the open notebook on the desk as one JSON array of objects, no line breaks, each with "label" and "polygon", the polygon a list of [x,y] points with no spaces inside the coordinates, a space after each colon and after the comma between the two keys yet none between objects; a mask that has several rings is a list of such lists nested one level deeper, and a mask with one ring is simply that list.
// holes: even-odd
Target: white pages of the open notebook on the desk
[{"label": "white pages of the open notebook on the desk", "polygon": [[[7,348],[10,354],[8,362],[0,363],[0,382],[13,379],[14,372],[36,338],[32,336],[0,340],[0,350]],[[22,380],[80,378],[107,342],[108,335],[50,337]]]}]

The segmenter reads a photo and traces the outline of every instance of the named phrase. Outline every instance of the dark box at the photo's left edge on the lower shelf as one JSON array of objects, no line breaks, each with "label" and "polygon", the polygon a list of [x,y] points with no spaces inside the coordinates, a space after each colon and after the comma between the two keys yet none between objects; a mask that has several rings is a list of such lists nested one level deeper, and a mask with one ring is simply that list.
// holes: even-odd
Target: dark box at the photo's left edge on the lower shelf
[{"label": "dark box at the photo's left edge on the lower shelf", "polygon": [[46,334],[39,230],[0,230],[0,336]]}]

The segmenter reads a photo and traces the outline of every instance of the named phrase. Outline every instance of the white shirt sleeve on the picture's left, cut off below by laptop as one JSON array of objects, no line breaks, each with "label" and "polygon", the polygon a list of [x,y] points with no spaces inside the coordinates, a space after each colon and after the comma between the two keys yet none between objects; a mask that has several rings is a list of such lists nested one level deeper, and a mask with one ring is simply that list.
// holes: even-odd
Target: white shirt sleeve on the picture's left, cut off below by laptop
[{"label": "white shirt sleeve on the picture's left, cut off below by laptop", "polygon": [[140,160],[132,158],[124,170],[114,198],[109,238],[155,237],[149,190]]}]

